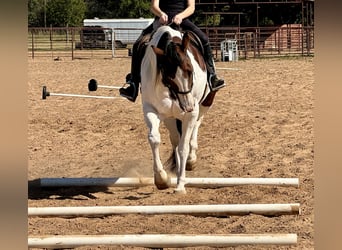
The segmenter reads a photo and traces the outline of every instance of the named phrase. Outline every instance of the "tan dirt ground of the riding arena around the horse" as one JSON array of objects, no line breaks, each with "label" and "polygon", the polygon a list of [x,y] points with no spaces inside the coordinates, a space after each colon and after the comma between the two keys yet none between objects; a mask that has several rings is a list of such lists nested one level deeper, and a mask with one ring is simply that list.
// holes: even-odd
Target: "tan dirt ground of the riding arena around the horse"
[{"label": "tan dirt ground of the riding arena around the horse", "polygon": [[[121,86],[130,57],[54,61],[28,60],[28,181],[45,177],[152,176],[141,99],[105,100],[51,96],[55,93],[118,96],[118,90],[88,92],[88,81]],[[300,187],[244,186],[217,189],[29,187],[28,206],[300,203],[301,215],[200,217],[122,215],[101,218],[28,219],[29,236],[104,234],[297,233],[295,246],[220,249],[314,249],[313,58],[217,62],[227,87],[199,130],[198,163],[188,177],[290,177]],[[161,128],[161,156],[170,144]],[[79,249],[141,249],[80,247]],[[212,249],[193,247],[189,249]]]}]

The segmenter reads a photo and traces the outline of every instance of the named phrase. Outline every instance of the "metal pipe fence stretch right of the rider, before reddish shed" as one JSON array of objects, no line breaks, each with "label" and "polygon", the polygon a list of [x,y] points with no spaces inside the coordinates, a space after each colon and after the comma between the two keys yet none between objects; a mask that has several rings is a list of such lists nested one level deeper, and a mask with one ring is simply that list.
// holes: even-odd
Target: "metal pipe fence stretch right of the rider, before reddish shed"
[{"label": "metal pipe fence stretch right of the rider, before reddish shed", "polygon": [[239,58],[314,55],[314,28],[300,24],[262,28],[207,28],[216,57],[221,42],[236,40]]}]

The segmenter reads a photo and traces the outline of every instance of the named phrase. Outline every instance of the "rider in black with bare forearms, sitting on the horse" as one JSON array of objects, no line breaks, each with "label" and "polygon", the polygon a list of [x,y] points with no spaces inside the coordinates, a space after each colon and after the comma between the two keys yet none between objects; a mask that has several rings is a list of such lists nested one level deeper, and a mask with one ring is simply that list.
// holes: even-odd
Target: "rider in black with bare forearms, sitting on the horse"
[{"label": "rider in black with bare forearms, sitting on the horse", "polygon": [[140,83],[140,68],[142,57],[139,56],[139,46],[141,40],[146,35],[151,34],[154,27],[173,22],[183,30],[193,31],[201,40],[204,50],[204,59],[209,73],[209,85],[212,91],[225,86],[224,80],[219,79],[215,73],[215,65],[212,50],[207,35],[201,31],[194,23],[189,20],[195,11],[195,0],[151,0],[151,11],[155,15],[154,22],[142,31],[142,34],[133,45],[131,73],[126,76],[127,88],[120,88],[120,95],[128,100],[135,102],[138,96]]}]

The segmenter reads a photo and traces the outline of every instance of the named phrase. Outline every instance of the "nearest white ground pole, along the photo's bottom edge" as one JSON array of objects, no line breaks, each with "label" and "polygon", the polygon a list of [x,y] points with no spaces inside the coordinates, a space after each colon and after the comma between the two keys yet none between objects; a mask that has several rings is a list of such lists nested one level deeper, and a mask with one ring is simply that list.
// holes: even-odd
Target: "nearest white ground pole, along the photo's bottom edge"
[{"label": "nearest white ground pole, along the photo's bottom edge", "polygon": [[292,245],[297,234],[232,234],[232,235],[70,235],[28,238],[29,248],[75,248],[95,245],[121,245],[135,247],[227,247],[237,245]]}]

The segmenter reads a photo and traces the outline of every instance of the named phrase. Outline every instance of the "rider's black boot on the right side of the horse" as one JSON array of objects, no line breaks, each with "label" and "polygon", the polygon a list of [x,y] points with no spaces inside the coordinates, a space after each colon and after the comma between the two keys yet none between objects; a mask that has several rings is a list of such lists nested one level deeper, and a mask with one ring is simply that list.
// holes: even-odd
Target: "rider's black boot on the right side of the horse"
[{"label": "rider's black boot on the right side of the horse", "polygon": [[219,79],[215,72],[214,58],[211,51],[210,44],[207,43],[203,46],[204,49],[204,59],[208,68],[208,82],[211,91],[217,91],[220,88],[226,86],[223,79]]}]

